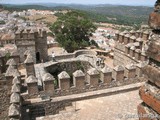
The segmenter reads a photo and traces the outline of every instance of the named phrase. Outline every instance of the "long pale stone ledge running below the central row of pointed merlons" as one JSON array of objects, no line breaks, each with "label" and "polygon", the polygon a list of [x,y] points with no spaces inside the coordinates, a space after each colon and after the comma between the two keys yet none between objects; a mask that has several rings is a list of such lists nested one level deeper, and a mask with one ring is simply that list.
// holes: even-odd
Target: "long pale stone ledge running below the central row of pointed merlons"
[{"label": "long pale stone ledge running below the central row of pointed merlons", "polygon": [[[126,85],[126,86],[114,87],[114,88],[110,88],[110,89],[86,92],[86,93],[81,93],[81,94],[56,97],[56,98],[51,98],[51,102],[59,102],[59,101],[72,101],[73,102],[73,101],[80,101],[80,100],[85,100],[85,99],[92,99],[92,98],[96,98],[96,97],[110,96],[113,94],[119,94],[119,93],[137,90],[143,84],[144,84],[144,82],[130,84],[130,85]],[[28,103],[28,102],[34,104],[34,103],[43,102],[43,101],[41,100],[41,98],[37,98],[37,99],[26,100],[26,103]]]}]

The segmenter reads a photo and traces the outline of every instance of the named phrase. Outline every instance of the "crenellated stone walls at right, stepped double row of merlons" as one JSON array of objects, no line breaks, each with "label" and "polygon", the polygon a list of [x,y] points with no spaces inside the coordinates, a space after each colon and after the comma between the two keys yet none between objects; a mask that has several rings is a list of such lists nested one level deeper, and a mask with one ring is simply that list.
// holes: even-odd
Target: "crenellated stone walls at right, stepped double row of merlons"
[{"label": "crenellated stone walls at right, stepped double row of merlons", "polygon": [[148,61],[146,55],[149,31],[117,32],[114,50],[114,65]]}]

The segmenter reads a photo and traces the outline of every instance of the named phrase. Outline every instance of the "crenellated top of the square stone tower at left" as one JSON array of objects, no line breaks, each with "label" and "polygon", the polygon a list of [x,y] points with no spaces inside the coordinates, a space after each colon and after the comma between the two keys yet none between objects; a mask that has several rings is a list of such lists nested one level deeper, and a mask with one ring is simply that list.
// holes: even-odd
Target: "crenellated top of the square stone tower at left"
[{"label": "crenellated top of the square stone tower at left", "polygon": [[43,29],[23,29],[17,30],[15,33],[15,40],[28,39],[34,40],[37,38],[45,38],[47,33]]}]

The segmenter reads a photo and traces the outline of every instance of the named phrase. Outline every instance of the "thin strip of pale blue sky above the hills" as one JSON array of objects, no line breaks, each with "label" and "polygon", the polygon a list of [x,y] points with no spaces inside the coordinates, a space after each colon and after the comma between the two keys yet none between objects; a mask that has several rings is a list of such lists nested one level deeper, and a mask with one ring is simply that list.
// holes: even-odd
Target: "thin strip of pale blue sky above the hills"
[{"label": "thin strip of pale blue sky above the hills", "polygon": [[64,3],[64,4],[120,4],[153,6],[156,0],[0,0],[0,3],[25,4],[25,3]]}]

